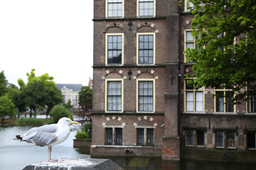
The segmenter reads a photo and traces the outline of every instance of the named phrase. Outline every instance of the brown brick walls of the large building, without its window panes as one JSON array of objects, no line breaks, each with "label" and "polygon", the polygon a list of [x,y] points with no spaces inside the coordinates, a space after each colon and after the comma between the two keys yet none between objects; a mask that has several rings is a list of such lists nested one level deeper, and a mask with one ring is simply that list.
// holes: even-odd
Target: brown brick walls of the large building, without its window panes
[{"label": "brown brick walls of the large building, without its window panes", "polygon": [[[197,151],[201,155],[209,150],[245,152],[247,132],[256,130],[256,116],[246,113],[245,102],[235,106],[233,113],[219,113],[215,111],[214,89],[203,89],[203,111],[185,111],[184,75],[193,72],[193,64],[184,61],[183,50],[193,15],[184,11],[184,6],[178,6],[176,0],[155,0],[156,15],[151,17],[137,16],[137,0],[122,2],[123,16],[113,18],[106,16],[107,1],[94,1],[91,154],[179,160],[191,158]],[[146,34],[155,38],[154,62],[138,64],[137,38]],[[108,35],[122,35],[122,63],[107,64]],[[138,82],[143,80],[154,82],[152,111],[138,111]],[[108,81],[122,82],[120,111],[106,110]],[[119,135],[118,129],[122,130]],[[150,138],[151,130],[153,137]],[[190,136],[186,136],[188,132]],[[216,132],[223,134],[225,140],[221,148],[216,147]],[[229,132],[232,139],[228,139]],[[139,144],[139,133],[144,144]],[[191,137],[189,144],[187,137]],[[117,138],[122,142],[117,143]],[[228,142],[231,142],[229,148]]]}]

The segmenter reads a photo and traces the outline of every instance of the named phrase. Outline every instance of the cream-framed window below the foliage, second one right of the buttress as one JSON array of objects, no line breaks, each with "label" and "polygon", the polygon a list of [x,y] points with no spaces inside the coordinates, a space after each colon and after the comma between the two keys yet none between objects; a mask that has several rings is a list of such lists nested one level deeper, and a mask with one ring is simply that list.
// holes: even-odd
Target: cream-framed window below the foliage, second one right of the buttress
[{"label": "cream-framed window below the foliage, second one right of the buttress", "polygon": [[229,89],[215,89],[215,112],[235,112],[233,93]]}]

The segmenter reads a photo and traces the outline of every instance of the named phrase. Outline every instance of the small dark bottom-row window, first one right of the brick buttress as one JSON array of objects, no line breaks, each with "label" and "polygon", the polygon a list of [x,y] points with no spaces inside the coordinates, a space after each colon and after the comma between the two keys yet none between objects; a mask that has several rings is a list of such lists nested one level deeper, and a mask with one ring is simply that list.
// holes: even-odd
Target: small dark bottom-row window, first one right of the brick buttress
[{"label": "small dark bottom-row window, first one right of the brick buttress", "polygon": [[204,130],[186,130],[186,147],[204,147]]}]

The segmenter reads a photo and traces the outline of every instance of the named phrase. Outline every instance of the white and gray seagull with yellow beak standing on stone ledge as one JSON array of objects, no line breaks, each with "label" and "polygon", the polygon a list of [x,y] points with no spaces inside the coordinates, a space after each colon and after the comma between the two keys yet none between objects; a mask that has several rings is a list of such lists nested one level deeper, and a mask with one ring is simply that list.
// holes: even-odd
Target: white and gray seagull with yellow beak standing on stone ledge
[{"label": "white and gray seagull with yellow beak standing on stone ledge", "polygon": [[78,124],[78,122],[72,121],[70,118],[60,118],[58,123],[31,128],[22,136],[16,135],[14,140],[34,143],[40,147],[48,146],[48,162],[58,162],[58,159],[50,158],[52,146],[58,145],[68,138],[71,124]]}]

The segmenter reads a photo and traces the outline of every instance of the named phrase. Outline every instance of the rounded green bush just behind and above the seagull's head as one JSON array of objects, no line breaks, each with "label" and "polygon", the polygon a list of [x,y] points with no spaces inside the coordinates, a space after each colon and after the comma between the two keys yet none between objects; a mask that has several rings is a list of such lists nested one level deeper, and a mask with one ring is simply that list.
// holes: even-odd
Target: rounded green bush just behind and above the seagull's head
[{"label": "rounded green bush just behind and above the seagull's head", "polygon": [[58,120],[63,117],[72,119],[73,113],[70,113],[70,111],[68,111],[68,108],[65,108],[64,106],[56,105],[50,111],[50,116],[53,117],[55,123],[58,123]]}]

